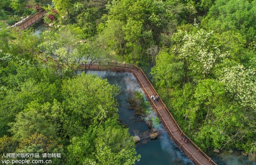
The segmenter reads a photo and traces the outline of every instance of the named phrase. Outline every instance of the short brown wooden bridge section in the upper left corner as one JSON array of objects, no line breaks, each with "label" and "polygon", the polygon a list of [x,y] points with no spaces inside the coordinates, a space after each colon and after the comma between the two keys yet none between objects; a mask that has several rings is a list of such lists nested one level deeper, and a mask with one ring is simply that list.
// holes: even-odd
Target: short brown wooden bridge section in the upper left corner
[{"label": "short brown wooden bridge section in the upper left corner", "polygon": [[[21,23],[16,23],[14,27],[19,28],[20,30],[25,30],[26,28],[30,27],[31,25],[33,25],[35,22],[37,22],[38,20],[40,20],[41,18],[43,18],[45,16],[45,14],[47,13],[47,11],[45,10],[41,10],[39,12],[37,12],[36,14],[34,14],[31,17],[28,17],[27,19],[25,18],[25,20]],[[13,26],[12,26],[13,27]]]}]

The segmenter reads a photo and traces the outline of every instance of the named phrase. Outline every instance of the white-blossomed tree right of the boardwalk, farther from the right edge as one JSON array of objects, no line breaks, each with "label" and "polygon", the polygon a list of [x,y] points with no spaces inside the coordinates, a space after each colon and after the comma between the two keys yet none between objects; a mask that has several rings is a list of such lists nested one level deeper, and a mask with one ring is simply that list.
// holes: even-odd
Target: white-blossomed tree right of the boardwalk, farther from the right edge
[{"label": "white-blossomed tree right of the boardwalk, farther from the right edge", "polygon": [[175,47],[178,59],[184,61],[194,78],[207,78],[216,64],[228,55],[214,44],[212,32],[200,29],[196,33],[179,31],[176,35],[182,37],[182,43]]}]

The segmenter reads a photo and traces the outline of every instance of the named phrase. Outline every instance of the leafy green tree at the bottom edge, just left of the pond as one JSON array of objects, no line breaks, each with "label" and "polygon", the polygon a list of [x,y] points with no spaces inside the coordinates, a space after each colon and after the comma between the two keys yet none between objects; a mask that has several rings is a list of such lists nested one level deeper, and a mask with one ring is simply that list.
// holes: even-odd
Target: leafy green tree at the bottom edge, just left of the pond
[{"label": "leafy green tree at the bottom edge, just left of the pond", "polygon": [[132,165],[139,160],[128,129],[107,120],[101,126],[90,127],[82,137],[73,137],[68,146],[70,164]]}]

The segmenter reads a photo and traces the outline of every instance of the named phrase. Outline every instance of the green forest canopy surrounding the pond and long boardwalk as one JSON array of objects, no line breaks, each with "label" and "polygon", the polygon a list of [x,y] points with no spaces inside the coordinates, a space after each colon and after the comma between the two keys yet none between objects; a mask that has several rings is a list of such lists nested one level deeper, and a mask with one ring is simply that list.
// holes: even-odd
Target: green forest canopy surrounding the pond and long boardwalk
[{"label": "green forest canopy surrounding the pond and long boardwalk", "polygon": [[[78,62],[115,61],[153,65],[161,99],[201,149],[236,148],[256,160],[256,0],[53,2],[0,0],[0,154],[55,152],[63,155],[55,164],[73,165],[139,160],[117,121],[119,88],[78,75]],[[10,28],[41,9],[49,31]]]}]

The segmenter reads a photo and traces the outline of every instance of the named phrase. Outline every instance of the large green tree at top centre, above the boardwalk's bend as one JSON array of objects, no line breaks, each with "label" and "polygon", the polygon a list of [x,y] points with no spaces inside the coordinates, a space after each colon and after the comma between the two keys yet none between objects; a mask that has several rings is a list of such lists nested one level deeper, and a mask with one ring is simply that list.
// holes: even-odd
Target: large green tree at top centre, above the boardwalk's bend
[{"label": "large green tree at top centre, above the boardwalk's bend", "polygon": [[[98,28],[103,30],[100,38],[111,37],[109,42],[102,39],[102,44],[121,55],[122,60],[137,64],[152,60],[147,49],[158,46],[169,20],[175,20],[173,6],[171,2],[157,0],[113,0],[106,7],[109,13],[103,17],[105,22]],[[118,23],[117,30],[110,29],[114,22]],[[114,47],[111,47],[113,43]],[[124,49],[117,49],[117,45]]]}]

